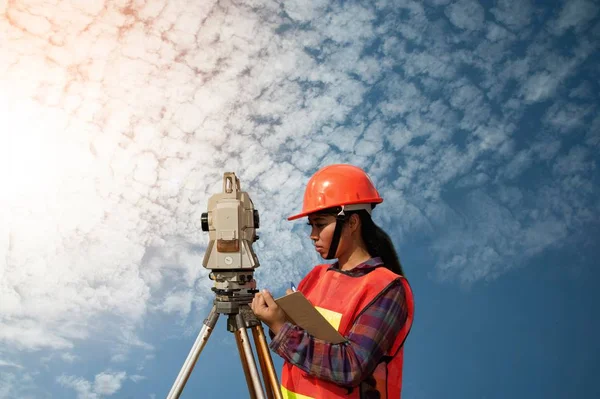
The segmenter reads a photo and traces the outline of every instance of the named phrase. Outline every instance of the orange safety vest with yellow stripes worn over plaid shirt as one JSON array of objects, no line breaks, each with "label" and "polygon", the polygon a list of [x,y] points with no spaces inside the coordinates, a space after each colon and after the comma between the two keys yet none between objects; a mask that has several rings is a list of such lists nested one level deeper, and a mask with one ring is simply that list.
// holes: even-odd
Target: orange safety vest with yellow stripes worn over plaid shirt
[{"label": "orange safety vest with yellow stripes worn over plaid shirt", "polygon": [[[300,282],[298,290],[343,336],[348,336],[354,321],[362,311],[377,299],[393,280],[401,280],[406,293],[406,323],[373,372],[379,397],[399,399],[402,390],[403,345],[414,314],[413,294],[408,282],[385,267],[377,267],[358,277],[349,276],[330,267],[328,264],[316,266]],[[283,364],[281,388],[286,399],[361,398],[360,387],[349,390],[333,382],[318,379],[287,361]]]}]

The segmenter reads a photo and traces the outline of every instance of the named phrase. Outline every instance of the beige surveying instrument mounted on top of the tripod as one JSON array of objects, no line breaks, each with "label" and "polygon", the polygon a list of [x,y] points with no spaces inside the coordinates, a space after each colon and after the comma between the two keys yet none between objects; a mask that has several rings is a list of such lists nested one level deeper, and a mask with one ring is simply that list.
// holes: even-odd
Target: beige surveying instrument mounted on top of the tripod
[{"label": "beige surveying instrument mounted on top of the tripod", "polygon": [[230,311],[223,309],[222,313],[236,313],[236,304],[251,302],[257,292],[254,269],[260,264],[252,244],[258,240],[258,210],[248,193],[241,191],[235,173],[226,172],[223,192],[209,198],[208,212],[201,217],[202,230],[210,238],[202,264],[211,270],[215,302],[230,304]]}]

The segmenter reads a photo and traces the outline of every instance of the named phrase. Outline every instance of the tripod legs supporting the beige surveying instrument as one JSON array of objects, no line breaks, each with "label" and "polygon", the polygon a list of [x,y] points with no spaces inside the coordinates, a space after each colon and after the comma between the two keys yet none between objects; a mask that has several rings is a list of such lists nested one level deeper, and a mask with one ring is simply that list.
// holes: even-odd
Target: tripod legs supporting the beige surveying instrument
[{"label": "tripod legs supporting the beige surveying instrument", "polygon": [[214,326],[217,324],[220,314],[227,314],[227,330],[235,334],[242,368],[246,376],[246,384],[251,399],[265,399],[263,387],[261,385],[256,362],[250,345],[250,339],[246,331],[252,330],[254,343],[257,346],[258,360],[262,375],[264,377],[265,388],[268,399],[282,399],[277,374],[273,367],[273,359],[267,346],[267,340],[260,321],[256,318],[249,303],[252,302],[253,292],[246,291],[241,295],[236,295],[237,290],[213,290],[217,293],[217,298],[213,302],[213,307],[204,320],[204,325],[185,360],[167,399],[177,399],[181,395],[185,383],[187,382],[192,369],[206,346]]}]

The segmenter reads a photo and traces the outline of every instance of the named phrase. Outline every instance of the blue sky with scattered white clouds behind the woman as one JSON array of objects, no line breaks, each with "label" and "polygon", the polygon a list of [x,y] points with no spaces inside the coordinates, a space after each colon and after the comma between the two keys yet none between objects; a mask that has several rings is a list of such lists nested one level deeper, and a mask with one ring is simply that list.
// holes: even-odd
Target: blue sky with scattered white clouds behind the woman
[{"label": "blue sky with scattered white clouds behind the woman", "polygon": [[[338,162],[415,291],[404,398],[600,396],[597,2],[0,1],[0,38],[0,398],[165,397],[222,174],[281,295]],[[222,317],[182,397],[244,395]]]}]

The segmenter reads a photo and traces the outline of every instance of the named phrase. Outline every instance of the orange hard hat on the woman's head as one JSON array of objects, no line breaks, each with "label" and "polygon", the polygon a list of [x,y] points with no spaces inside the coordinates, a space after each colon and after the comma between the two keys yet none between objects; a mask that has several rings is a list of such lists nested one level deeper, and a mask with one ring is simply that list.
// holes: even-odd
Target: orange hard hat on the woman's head
[{"label": "orange hard hat on the woman's head", "polygon": [[319,169],[310,178],[304,191],[302,212],[288,217],[288,220],[327,208],[381,202],[383,198],[364,170],[353,165],[329,165]]}]

